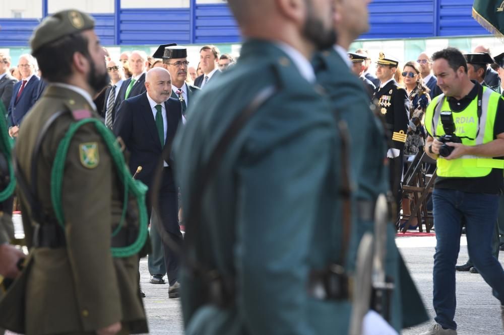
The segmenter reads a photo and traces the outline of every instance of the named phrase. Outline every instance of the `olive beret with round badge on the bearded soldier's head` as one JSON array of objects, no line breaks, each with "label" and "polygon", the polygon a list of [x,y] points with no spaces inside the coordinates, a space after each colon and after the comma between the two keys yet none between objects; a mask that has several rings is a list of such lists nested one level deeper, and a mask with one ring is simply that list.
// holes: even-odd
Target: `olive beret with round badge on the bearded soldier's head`
[{"label": "olive beret with round badge on the bearded soldier's head", "polygon": [[32,53],[61,37],[93,29],[94,24],[92,17],[77,10],[61,11],[48,16],[33,31],[30,38]]}]

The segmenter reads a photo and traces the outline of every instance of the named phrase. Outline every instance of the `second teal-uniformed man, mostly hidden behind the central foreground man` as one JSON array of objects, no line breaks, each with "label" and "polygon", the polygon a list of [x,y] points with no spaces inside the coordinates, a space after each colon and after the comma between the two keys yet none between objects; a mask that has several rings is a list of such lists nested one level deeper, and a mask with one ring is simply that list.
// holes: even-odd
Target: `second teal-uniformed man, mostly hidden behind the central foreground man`
[{"label": "second teal-uniformed man, mostly hidden behind the central foreground man", "polygon": [[[334,109],[348,125],[350,137],[350,171],[356,186],[355,203],[352,218],[353,236],[350,243],[348,270],[353,271],[357,258],[359,242],[366,232],[374,230],[374,207],[380,194],[389,191],[388,168],[384,164],[388,144],[385,138],[383,122],[369,106],[369,98],[364,92],[362,81],[365,77],[362,62],[366,56],[359,53],[346,53],[350,43],[369,28],[367,1],[344,0],[339,2],[337,12],[340,21],[335,22],[338,34],[337,44],[320,52],[313,60],[317,69],[317,81],[327,91]],[[348,58],[351,69],[348,66]],[[352,72],[355,75],[352,75]],[[367,80],[367,79],[365,79]],[[371,83],[372,85],[372,83]],[[366,148],[362,150],[361,148]],[[394,241],[395,227],[389,222],[387,232],[386,272],[392,279],[395,289],[392,293],[390,308],[391,318],[387,321],[397,330],[427,319],[425,307],[413,284],[404,261]],[[345,314],[346,313],[346,314]],[[341,333],[347,333],[343,321],[349,318],[349,310],[341,311],[338,316]]]}]

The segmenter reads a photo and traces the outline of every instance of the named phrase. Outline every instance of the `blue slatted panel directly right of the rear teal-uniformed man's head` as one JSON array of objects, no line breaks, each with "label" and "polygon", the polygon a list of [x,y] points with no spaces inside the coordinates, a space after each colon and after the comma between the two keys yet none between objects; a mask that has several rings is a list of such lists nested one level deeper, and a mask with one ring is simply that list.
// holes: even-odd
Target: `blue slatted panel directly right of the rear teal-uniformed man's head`
[{"label": "blue slatted panel directly right of the rear teal-uniformed man's head", "polygon": [[369,31],[360,38],[432,37],[434,0],[374,0],[369,23]]}]

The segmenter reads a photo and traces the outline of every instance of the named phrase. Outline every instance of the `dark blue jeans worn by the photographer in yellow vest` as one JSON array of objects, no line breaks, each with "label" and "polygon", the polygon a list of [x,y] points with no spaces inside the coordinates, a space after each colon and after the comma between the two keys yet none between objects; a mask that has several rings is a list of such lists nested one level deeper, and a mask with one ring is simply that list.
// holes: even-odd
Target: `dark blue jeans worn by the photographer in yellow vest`
[{"label": "dark blue jeans worn by the photographer in yellow vest", "polygon": [[436,232],[434,255],[435,321],[445,328],[457,329],[453,320],[455,298],[455,265],[460,250],[462,217],[466,220],[469,257],[474,267],[493,289],[493,295],[504,304],[504,270],[492,256],[491,240],[497,220],[499,196],[434,189],[432,202]]}]

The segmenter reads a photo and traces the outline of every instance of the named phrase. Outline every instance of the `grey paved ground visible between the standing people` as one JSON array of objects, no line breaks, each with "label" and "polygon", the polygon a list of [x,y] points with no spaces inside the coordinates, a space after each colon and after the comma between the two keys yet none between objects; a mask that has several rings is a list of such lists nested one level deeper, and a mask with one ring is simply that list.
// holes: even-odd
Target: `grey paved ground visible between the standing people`
[{"label": "grey paved ground visible between the standing people", "polygon": [[[422,294],[425,306],[433,318],[432,257],[435,237],[399,237],[396,241]],[[468,258],[465,238],[461,244],[459,264]],[[504,256],[501,256],[500,260],[504,260]],[[145,305],[151,334],[182,334],[179,299],[167,298],[167,285],[149,284],[146,260],[142,260],[140,266],[142,288],[147,295]],[[489,286],[480,275],[468,272],[457,273],[457,300],[456,321],[459,325],[459,334],[504,334],[500,323],[499,303],[492,296]],[[433,321],[405,329],[403,334],[418,334],[431,324]]]}]

